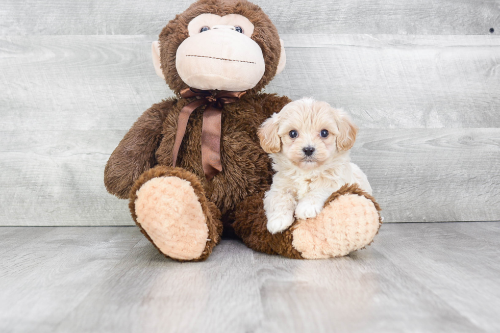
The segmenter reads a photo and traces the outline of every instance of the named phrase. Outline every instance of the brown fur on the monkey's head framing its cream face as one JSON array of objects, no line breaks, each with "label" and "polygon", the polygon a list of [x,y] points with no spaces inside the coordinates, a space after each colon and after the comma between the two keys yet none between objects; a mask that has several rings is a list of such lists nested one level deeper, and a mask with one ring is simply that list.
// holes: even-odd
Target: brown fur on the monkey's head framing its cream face
[{"label": "brown fur on the monkey's head framing its cream face", "polygon": [[261,91],[276,74],[281,53],[280,37],[278,30],[262,9],[246,0],[199,0],[189,6],[184,13],[177,15],[176,18],[168,22],[160,33],[159,41],[162,71],[170,89],[179,94],[182,89],[187,87],[177,73],[177,49],[189,37],[187,30],[189,22],[204,13],[219,16],[239,14],[245,16],[254,24],[255,29],[252,39],[262,49],[265,72],[260,82],[248,93],[255,94]]}]

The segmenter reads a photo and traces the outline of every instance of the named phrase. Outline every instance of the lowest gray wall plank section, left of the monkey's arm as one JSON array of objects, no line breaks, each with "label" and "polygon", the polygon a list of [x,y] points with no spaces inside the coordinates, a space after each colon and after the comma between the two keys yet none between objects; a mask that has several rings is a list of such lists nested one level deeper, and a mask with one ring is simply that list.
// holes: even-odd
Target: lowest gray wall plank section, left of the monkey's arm
[{"label": "lowest gray wall plank section, left of the monkey's arm", "polygon": [[[3,225],[132,225],[104,167],[126,131],[1,132]],[[64,221],[64,216],[70,217]]]}]

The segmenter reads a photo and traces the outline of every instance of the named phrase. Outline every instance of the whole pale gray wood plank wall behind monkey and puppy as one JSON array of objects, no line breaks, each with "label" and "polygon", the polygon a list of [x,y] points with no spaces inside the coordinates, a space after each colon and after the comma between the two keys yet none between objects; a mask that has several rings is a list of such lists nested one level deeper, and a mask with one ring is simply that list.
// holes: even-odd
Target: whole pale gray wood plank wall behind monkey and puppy
[{"label": "whole pale gray wood plank wall behind monkey and puppy", "polygon": [[[104,165],[172,95],[151,42],[190,3],[1,1],[0,225],[133,223]],[[287,52],[266,91],[352,114],[386,222],[500,220],[500,0],[255,3]]]}]

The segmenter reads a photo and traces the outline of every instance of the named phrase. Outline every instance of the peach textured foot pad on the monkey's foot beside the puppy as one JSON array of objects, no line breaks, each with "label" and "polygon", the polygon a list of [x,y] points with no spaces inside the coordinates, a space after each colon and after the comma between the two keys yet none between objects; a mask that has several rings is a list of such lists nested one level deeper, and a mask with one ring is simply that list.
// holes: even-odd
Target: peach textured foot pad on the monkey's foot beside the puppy
[{"label": "peach textured foot pad on the monkey's foot beside the puppy", "polygon": [[341,257],[368,245],[378,230],[379,214],[373,202],[345,194],[318,216],[299,221],[292,246],[306,259]]}]

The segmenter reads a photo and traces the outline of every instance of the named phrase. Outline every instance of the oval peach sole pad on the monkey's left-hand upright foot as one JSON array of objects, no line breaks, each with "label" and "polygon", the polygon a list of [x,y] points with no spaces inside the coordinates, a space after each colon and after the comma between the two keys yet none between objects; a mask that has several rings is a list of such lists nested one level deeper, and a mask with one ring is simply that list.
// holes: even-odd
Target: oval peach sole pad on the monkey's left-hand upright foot
[{"label": "oval peach sole pad on the monkey's left-hand upright foot", "polygon": [[170,258],[198,258],[207,243],[208,226],[191,183],[157,177],[137,191],[137,221],[153,243]]}]

